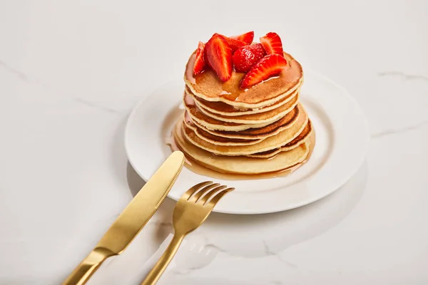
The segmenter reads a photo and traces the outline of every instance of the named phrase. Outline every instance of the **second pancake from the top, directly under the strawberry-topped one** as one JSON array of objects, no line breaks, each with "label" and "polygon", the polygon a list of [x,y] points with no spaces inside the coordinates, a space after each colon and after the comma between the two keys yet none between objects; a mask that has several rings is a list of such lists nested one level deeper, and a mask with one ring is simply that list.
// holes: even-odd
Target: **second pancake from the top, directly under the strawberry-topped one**
[{"label": "second pancake from the top, directly under the strawberry-topped one", "polygon": [[202,98],[198,98],[198,96],[195,96],[190,90],[190,88],[188,88],[188,86],[185,86],[185,93],[190,95],[193,98],[193,100],[195,100],[198,103],[198,105],[203,107],[205,110],[210,111],[211,113],[218,114],[218,115],[225,115],[225,116],[249,115],[249,114],[263,113],[269,110],[273,110],[289,102],[292,99],[292,96],[294,96],[299,90],[300,88],[297,88],[294,92],[285,96],[285,98],[278,100],[272,105],[267,105],[263,108],[249,109],[249,108],[234,107],[232,105],[228,105],[223,102],[210,102],[207,100],[203,100]]}]

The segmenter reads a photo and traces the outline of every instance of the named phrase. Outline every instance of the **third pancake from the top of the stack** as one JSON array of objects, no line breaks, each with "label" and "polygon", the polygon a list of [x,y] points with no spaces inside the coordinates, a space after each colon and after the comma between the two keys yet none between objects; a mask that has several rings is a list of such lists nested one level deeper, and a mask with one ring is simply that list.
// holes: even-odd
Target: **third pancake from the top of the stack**
[{"label": "third pancake from the top of the stack", "polygon": [[190,95],[184,94],[185,109],[188,110],[192,120],[211,130],[229,130],[240,131],[248,128],[262,128],[275,121],[280,120],[287,113],[295,108],[299,100],[299,94],[293,96],[290,101],[281,105],[279,108],[264,113],[255,113],[250,115],[240,115],[235,117],[226,117],[215,115],[190,98]]}]

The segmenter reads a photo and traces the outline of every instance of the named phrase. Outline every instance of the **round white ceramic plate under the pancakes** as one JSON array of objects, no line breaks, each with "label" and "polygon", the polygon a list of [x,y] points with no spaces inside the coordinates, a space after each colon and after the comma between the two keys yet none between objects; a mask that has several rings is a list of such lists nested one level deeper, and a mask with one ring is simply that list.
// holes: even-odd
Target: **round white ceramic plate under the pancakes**
[{"label": "round white ceramic plate under the pancakes", "polygon": [[[168,155],[165,145],[175,120],[184,83],[171,81],[138,103],[128,118],[125,147],[129,162],[143,180],[153,175]],[[301,101],[316,132],[310,160],[287,177],[265,180],[218,180],[235,187],[223,197],[215,212],[262,214],[309,204],[329,195],[358,170],[369,142],[367,120],[360,106],[343,88],[312,71],[305,71]],[[187,168],[168,197],[179,199],[189,187],[211,178]]]}]

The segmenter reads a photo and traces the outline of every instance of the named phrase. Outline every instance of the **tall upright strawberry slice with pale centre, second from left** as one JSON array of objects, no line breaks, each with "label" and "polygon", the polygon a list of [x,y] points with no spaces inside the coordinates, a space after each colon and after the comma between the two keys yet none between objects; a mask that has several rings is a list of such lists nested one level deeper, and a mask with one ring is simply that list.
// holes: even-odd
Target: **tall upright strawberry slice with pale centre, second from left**
[{"label": "tall upright strawberry slice with pale centre, second from left", "polygon": [[223,36],[215,33],[205,44],[205,60],[221,81],[232,76],[232,49]]}]

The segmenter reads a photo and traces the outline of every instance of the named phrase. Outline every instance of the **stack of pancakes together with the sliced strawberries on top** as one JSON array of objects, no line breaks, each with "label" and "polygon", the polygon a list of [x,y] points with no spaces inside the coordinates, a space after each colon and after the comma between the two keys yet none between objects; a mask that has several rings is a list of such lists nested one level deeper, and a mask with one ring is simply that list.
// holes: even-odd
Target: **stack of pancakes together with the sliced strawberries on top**
[{"label": "stack of pancakes together with the sliced strawberries on top", "polygon": [[193,172],[227,180],[283,177],[310,158],[315,133],[299,103],[302,66],[282,52],[277,33],[251,40],[215,33],[188,60],[185,114],[170,145],[185,153]]}]

